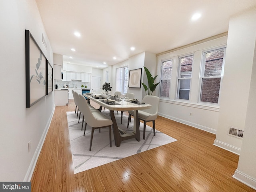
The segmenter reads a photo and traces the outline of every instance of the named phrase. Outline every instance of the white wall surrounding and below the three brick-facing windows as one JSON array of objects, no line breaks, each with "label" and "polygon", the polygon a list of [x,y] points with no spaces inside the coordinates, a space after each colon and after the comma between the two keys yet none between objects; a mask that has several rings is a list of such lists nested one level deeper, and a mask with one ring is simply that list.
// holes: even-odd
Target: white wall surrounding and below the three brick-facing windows
[{"label": "white wall surrounding and below the three brick-facing windows", "polygon": [[[172,80],[170,98],[161,98],[159,104],[159,115],[166,118],[181,122],[211,133],[216,134],[218,123],[219,106],[216,104],[200,103],[200,66],[202,60],[202,53],[204,50],[218,48],[226,45],[227,36],[209,40],[193,46],[175,50],[166,54],[158,56],[158,66],[156,82],[160,82],[161,64],[162,61],[173,60],[172,66]],[[176,99],[177,88],[177,71],[178,58],[188,54],[194,54],[192,80],[190,88],[190,100]],[[160,85],[156,89],[156,95],[159,95]],[[190,116],[192,112],[192,116]]]}]

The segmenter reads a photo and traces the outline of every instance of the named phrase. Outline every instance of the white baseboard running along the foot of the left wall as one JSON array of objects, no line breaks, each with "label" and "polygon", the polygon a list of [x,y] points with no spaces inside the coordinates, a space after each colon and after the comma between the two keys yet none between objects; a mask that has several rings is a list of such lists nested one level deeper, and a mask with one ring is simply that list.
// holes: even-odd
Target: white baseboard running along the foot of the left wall
[{"label": "white baseboard running along the foot of the left wall", "polygon": [[23,182],[30,182],[30,180],[32,178],[34,169],[36,167],[36,162],[38,160],[38,157],[40,155],[40,152],[41,152],[43,144],[44,144],[44,140],[46,138],[46,134],[47,134],[47,132],[48,132],[48,130],[50,128],[50,124],[52,122],[52,117],[53,117],[53,114],[54,114],[54,110],[55,110],[55,105],[54,105],[54,108],[52,110],[52,114],[51,114],[51,116],[50,116],[50,118],[49,118],[49,120],[48,120],[48,122],[46,124],[46,127],[44,128],[44,132],[43,132],[42,137],[41,137],[41,139],[39,141],[39,144],[38,144],[38,146],[36,148],[36,151],[35,151],[35,153],[33,155],[33,158],[32,158],[32,160],[30,162],[30,165],[28,167],[28,170],[27,170],[27,173],[26,173],[26,175],[24,177]]}]

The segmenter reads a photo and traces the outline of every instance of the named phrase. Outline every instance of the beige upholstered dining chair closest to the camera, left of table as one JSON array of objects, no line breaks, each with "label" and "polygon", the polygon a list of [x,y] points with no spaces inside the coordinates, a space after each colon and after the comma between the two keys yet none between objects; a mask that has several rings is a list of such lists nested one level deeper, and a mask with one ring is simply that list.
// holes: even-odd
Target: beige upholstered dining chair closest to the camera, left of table
[{"label": "beige upholstered dining chair closest to the camera, left of table", "polygon": [[113,124],[112,120],[107,118],[103,114],[101,114],[99,111],[92,112],[92,110],[90,110],[88,106],[88,103],[85,97],[82,95],[79,95],[79,98],[80,98],[80,111],[84,114],[84,119],[85,119],[84,135],[86,131],[86,125],[88,124],[89,126],[92,127],[89,150],[91,151],[92,149],[92,138],[93,138],[94,130],[99,128],[105,128],[105,127],[108,127],[109,144],[110,144],[110,147],[112,147],[112,144],[111,144],[111,125]]}]

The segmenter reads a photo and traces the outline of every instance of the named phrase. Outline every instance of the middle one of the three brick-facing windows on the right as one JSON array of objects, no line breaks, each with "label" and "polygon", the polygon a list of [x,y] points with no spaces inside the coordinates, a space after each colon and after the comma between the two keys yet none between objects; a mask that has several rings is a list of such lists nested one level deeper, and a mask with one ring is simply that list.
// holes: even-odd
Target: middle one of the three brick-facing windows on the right
[{"label": "middle one of the three brick-facing windows on the right", "polygon": [[194,55],[179,58],[178,99],[189,100],[193,58]]}]

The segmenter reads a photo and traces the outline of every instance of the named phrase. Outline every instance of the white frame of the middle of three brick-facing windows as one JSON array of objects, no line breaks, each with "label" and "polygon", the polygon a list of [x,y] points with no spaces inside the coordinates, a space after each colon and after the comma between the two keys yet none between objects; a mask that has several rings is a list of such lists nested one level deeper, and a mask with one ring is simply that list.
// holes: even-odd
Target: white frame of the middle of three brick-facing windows
[{"label": "white frame of the middle of three brick-facing windows", "polygon": [[[182,59],[182,58],[186,58],[186,57],[190,57],[190,56],[193,56],[193,61],[192,61],[192,67],[193,67],[193,64],[194,64],[194,53],[193,54],[188,54],[188,55],[183,55],[183,56],[179,56],[178,57],[178,72],[177,72],[177,86],[176,86],[176,99],[177,100],[184,100],[184,101],[190,101],[190,97],[191,97],[191,82],[192,82],[192,71],[191,71],[191,77],[183,77],[183,78],[181,78],[180,76],[181,76],[181,70],[180,70],[180,67],[181,67],[181,65],[180,65],[180,60]],[[182,99],[182,98],[179,98],[179,90],[180,90],[180,81],[181,80],[184,80],[184,79],[190,79],[190,86],[189,86],[189,89],[187,89],[187,90],[189,90],[189,96],[188,96],[188,99]],[[185,89],[183,89],[183,90],[185,90]]]}]

